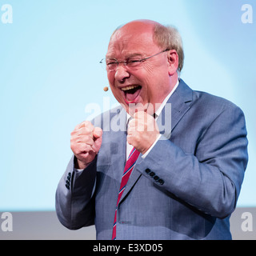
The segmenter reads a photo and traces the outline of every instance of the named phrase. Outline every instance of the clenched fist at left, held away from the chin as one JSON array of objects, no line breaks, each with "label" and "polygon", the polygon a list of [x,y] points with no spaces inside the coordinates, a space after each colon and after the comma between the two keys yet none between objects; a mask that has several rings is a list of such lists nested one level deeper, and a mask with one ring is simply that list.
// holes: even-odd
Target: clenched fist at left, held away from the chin
[{"label": "clenched fist at left, held away from the chin", "polygon": [[102,146],[102,129],[94,127],[91,122],[85,121],[74,128],[71,133],[70,147],[77,162],[74,168],[85,169],[94,161],[98,150]]}]

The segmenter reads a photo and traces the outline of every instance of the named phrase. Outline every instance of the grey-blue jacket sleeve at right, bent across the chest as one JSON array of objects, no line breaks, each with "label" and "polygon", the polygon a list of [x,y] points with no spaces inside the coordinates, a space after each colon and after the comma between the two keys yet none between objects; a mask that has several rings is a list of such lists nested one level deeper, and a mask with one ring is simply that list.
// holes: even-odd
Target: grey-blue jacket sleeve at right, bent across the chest
[{"label": "grey-blue jacket sleeve at right, bent across the chest", "polygon": [[194,148],[188,154],[171,138],[160,139],[145,159],[139,158],[137,170],[198,210],[226,218],[235,209],[248,160],[242,110],[223,110]]}]

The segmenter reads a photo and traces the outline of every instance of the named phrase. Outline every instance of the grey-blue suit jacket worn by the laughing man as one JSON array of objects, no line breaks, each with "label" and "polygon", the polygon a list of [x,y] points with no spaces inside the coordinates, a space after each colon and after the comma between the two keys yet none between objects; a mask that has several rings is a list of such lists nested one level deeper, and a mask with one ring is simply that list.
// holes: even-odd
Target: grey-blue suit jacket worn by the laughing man
[{"label": "grey-blue suit jacket worn by the laughing man", "polygon": [[[168,102],[171,126],[162,131],[168,139],[139,156],[118,204],[117,239],[231,239],[230,214],[248,158],[242,110],[182,80]],[[102,147],[81,172],[71,158],[56,211],[67,228],[95,225],[98,239],[111,239],[126,163],[126,111],[110,110],[94,125],[104,130]]]}]

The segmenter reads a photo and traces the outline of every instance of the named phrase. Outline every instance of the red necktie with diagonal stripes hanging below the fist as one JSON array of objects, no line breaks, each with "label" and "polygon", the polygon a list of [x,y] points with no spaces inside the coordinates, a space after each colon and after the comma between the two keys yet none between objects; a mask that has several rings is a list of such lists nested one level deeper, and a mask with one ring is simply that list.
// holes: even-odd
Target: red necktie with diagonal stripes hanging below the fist
[{"label": "red necktie with diagonal stripes hanging below the fist", "polygon": [[116,224],[117,224],[118,203],[122,197],[123,191],[125,190],[126,183],[128,182],[128,179],[130,178],[130,174],[134,170],[134,165],[138,159],[138,155],[139,155],[138,150],[133,148],[133,150],[131,150],[129,157],[126,161],[125,170],[123,171],[123,174],[122,174],[122,181],[121,181],[120,190],[119,190],[119,194],[118,194],[118,202],[117,202],[117,206],[116,206],[115,212],[114,212],[114,226],[113,226],[112,240],[116,239],[116,234],[117,234]]}]

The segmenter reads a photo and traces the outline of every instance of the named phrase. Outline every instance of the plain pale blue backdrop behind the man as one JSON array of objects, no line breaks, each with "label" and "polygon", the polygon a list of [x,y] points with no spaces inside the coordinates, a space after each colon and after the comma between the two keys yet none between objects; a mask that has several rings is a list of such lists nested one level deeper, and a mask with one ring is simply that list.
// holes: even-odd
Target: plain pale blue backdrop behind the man
[{"label": "plain pale blue backdrop behind the man", "polygon": [[116,103],[102,90],[108,82],[98,64],[110,34],[138,18],[176,26],[186,56],[181,77],[246,114],[250,162],[238,206],[256,206],[256,15],[241,22],[242,5],[256,10],[255,1],[0,0],[0,7],[6,3],[13,24],[0,20],[1,211],[54,210],[70,132],[90,115],[87,104]]}]

